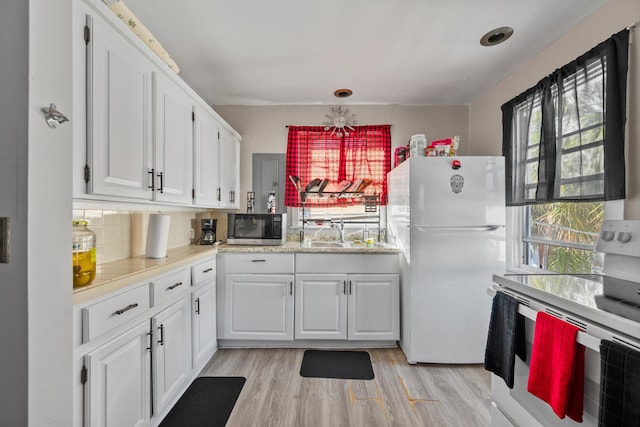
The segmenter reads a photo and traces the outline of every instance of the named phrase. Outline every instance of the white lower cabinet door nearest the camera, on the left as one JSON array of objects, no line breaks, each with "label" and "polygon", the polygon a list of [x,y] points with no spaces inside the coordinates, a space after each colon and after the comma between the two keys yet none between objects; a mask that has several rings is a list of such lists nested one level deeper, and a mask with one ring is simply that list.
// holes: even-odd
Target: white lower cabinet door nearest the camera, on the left
[{"label": "white lower cabinet door nearest the camera, on the left", "polygon": [[149,321],[87,354],[85,361],[87,425],[144,425],[151,413]]}]

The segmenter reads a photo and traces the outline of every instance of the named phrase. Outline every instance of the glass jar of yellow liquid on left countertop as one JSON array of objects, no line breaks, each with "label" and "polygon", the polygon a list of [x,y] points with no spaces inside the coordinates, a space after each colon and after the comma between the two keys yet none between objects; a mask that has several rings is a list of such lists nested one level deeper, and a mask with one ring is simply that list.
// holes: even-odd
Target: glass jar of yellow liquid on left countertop
[{"label": "glass jar of yellow liquid on left countertop", "polygon": [[96,277],[96,235],[87,221],[73,221],[73,287],[86,286]]}]

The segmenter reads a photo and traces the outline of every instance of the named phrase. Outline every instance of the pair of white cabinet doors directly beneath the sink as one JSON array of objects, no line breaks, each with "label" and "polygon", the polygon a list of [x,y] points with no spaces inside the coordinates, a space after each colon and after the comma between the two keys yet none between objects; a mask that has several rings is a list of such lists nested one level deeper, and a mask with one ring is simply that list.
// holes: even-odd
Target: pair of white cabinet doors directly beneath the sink
[{"label": "pair of white cabinet doors directly beneath the sink", "polygon": [[296,275],[296,339],[398,340],[397,274]]}]

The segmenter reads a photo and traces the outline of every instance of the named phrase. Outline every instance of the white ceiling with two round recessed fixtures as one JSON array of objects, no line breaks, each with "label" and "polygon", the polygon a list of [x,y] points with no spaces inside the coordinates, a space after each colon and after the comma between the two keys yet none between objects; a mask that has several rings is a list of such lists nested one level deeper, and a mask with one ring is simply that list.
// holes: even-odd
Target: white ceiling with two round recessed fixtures
[{"label": "white ceiling with two round recessed fixtures", "polygon": [[468,104],[606,2],[124,1],[213,105]]}]

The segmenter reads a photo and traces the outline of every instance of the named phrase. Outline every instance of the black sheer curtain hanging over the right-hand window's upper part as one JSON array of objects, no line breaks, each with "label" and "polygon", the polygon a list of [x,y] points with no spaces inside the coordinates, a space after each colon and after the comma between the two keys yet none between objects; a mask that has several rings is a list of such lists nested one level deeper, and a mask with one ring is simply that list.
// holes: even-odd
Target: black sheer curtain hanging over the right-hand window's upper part
[{"label": "black sheer curtain hanging over the right-hand window's upper part", "polygon": [[625,197],[628,48],[623,30],[502,105],[508,206]]}]

